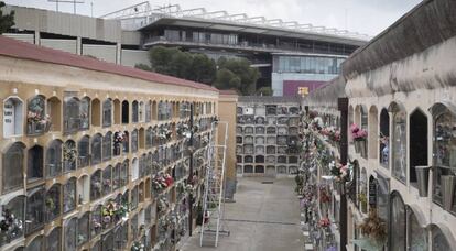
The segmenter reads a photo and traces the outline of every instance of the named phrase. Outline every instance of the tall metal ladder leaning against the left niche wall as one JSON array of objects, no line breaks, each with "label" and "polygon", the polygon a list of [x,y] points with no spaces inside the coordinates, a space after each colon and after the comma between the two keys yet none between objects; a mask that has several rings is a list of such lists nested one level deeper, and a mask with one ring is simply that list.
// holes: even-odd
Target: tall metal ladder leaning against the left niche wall
[{"label": "tall metal ladder leaning against the left niche wall", "polygon": [[[222,142],[216,143],[217,140],[215,138],[218,137],[217,132],[219,130],[221,130],[224,138]],[[228,123],[224,121],[213,122],[209,133],[209,149],[207,151],[206,181],[204,183],[200,247],[214,243],[213,245],[217,248],[219,234],[229,236],[229,231],[225,230],[222,223],[227,142]]]}]

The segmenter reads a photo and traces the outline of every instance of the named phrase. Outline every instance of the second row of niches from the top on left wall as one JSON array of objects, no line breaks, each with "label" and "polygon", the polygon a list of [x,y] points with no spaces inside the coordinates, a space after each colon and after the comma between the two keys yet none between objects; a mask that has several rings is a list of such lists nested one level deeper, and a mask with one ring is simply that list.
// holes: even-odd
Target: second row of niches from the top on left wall
[{"label": "second row of niches from the top on left wall", "polygon": [[[15,142],[2,156],[2,194],[23,187],[24,174],[28,183],[54,178],[77,168],[97,165],[110,161],[112,157],[127,155],[130,152],[137,153],[139,149],[145,150],[156,146],[153,152],[134,157],[132,160],[133,170],[153,163],[162,166],[169,165],[188,154],[187,139],[165,145],[170,140],[165,135],[161,137],[152,132],[153,130],[146,130],[146,133],[144,130],[133,130],[131,133],[127,131],[107,132],[105,135],[97,133],[93,137],[84,135],[77,143],[73,140],[63,142],[55,139],[46,148],[35,144],[26,151],[24,143]],[[208,133],[195,134],[193,139],[196,149],[208,144]]]}]

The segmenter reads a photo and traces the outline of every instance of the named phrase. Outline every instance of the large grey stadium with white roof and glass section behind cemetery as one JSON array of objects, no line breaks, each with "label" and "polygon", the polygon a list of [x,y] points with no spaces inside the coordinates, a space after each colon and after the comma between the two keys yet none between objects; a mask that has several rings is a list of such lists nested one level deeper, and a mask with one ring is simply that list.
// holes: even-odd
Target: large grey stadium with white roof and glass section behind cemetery
[{"label": "large grey stadium with white roof and glass section behind cemetery", "polygon": [[148,50],[180,46],[210,58],[243,57],[258,67],[257,89],[270,86],[274,96],[311,92],[340,73],[340,64],[368,41],[367,35],[263,17],[152,9],[139,3],[100,18],[9,6],[15,25],[4,34],[42,46],[134,66],[150,64]]}]

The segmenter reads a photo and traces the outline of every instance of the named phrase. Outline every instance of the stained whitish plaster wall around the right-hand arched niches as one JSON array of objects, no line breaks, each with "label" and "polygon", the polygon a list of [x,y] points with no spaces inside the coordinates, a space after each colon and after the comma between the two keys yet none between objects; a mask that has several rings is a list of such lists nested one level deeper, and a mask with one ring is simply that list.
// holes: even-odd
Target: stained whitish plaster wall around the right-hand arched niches
[{"label": "stained whitish plaster wall around the right-hand arched niches", "polygon": [[[357,57],[363,56],[359,55]],[[378,156],[376,156],[378,154],[372,154],[363,159],[355,153],[352,145],[350,145],[349,155],[351,159],[358,160],[361,168],[367,170],[368,177],[370,175],[377,176],[380,173],[382,176],[390,178],[390,192],[399,192],[404,204],[415,211],[419,221],[422,222],[422,227],[430,229],[431,226],[438,226],[453,247],[456,244],[456,229],[453,227],[456,225],[456,217],[433,203],[431,195],[428,197],[420,197],[417,188],[410,183],[409,177],[411,176],[411,114],[420,110],[427,118],[428,151],[426,154],[428,160],[427,165],[432,166],[434,118],[430,109],[438,102],[448,103],[449,106],[456,103],[455,58],[456,36],[371,70],[363,72],[362,67],[348,67],[352,72],[345,73],[347,78],[345,90],[349,97],[350,110],[355,111],[355,118],[360,118],[357,111],[357,107],[360,106],[366,107],[369,111],[378,111],[369,112],[369,132],[378,129],[379,124],[372,123],[372,121],[380,121],[380,111],[383,108],[390,107],[392,102],[401,103],[406,111],[406,182],[402,183],[393,176],[391,164],[389,168],[382,167],[379,164]],[[348,65],[351,64],[355,63],[350,63],[350,59],[348,59]],[[391,116],[392,113],[390,112],[390,120],[392,118]],[[390,131],[391,128],[390,122]],[[379,152],[377,137],[369,138],[368,144],[369,153]],[[432,182],[430,183],[431,185]]]}]

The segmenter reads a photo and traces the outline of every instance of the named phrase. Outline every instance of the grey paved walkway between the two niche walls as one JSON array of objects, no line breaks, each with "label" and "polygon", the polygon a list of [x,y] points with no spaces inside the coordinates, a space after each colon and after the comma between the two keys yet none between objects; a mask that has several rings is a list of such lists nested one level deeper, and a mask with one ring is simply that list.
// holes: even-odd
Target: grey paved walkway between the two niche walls
[{"label": "grey paved walkway between the two niche walls", "polygon": [[[262,184],[273,181],[273,184]],[[236,203],[226,204],[230,236],[220,236],[217,249],[200,248],[199,233],[182,250],[294,251],[303,250],[300,206],[293,193],[294,181],[239,178]]]}]

